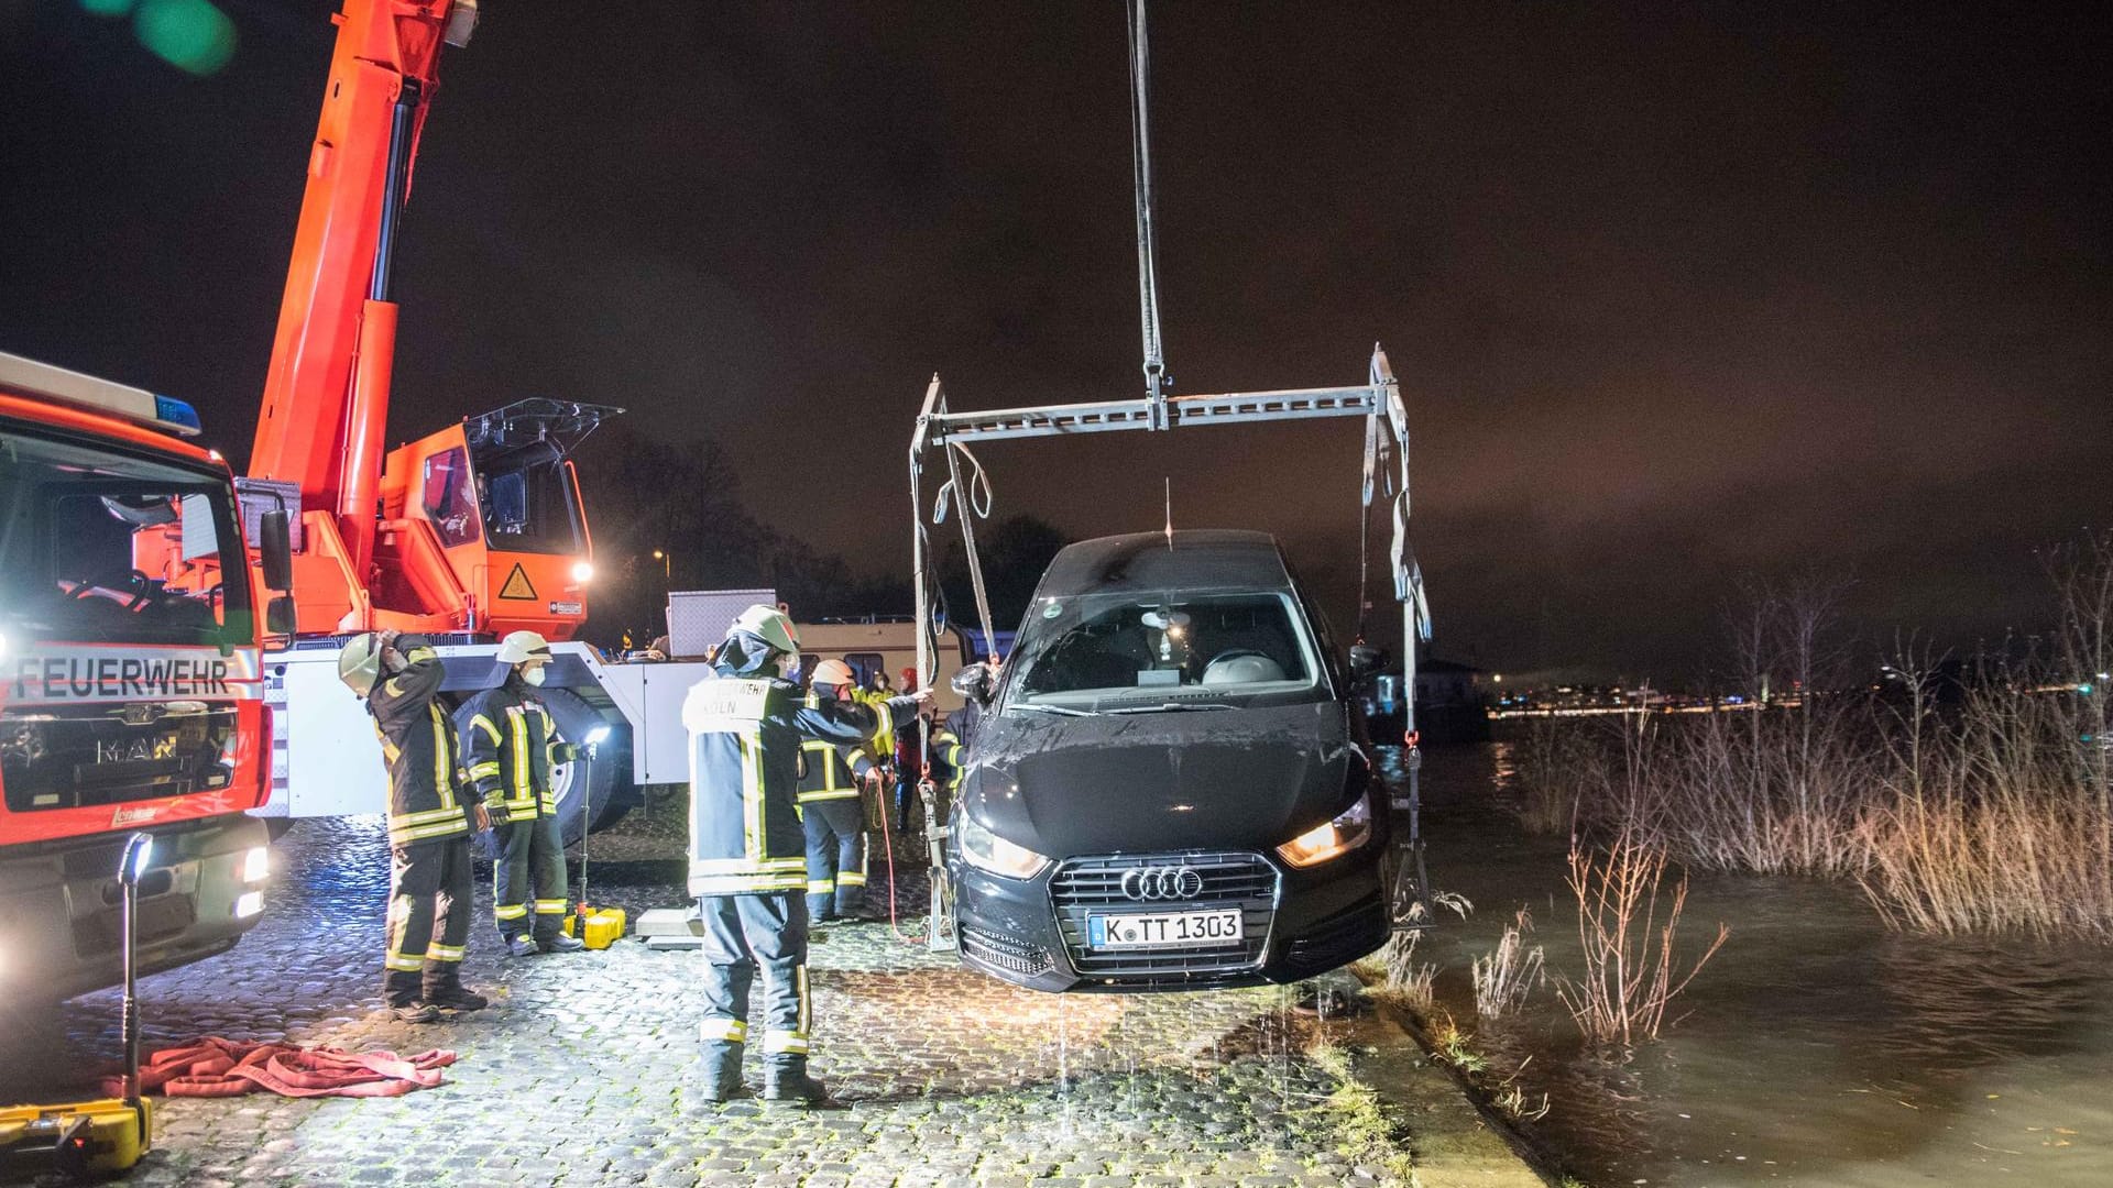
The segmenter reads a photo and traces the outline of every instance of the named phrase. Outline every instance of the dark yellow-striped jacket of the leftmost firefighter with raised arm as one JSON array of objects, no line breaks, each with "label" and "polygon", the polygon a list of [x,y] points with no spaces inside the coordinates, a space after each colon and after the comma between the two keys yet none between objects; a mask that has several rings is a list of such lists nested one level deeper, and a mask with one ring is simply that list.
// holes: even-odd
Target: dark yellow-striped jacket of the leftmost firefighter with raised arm
[{"label": "dark yellow-striped jacket of the leftmost firefighter with raised arm", "polygon": [[469,833],[469,814],[454,799],[463,774],[454,725],[440,706],[446,676],[429,647],[414,647],[401,672],[374,685],[368,712],[389,761],[389,843],[416,846]]}]

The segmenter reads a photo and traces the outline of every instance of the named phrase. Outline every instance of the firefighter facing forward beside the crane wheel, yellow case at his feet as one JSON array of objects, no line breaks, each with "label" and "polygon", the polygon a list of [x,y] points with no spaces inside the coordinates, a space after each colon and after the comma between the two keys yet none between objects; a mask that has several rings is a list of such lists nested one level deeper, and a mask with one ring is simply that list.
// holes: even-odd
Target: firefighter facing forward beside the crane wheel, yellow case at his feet
[{"label": "firefighter facing forward beside the crane wheel, yellow case at his feet", "polygon": [[537,695],[549,666],[549,643],[535,632],[499,641],[507,679],[463,706],[463,755],[469,782],[484,801],[499,839],[492,862],[492,917],[507,953],[568,953],[585,947],[564,934],[571,890],[564,879],[564,837],[558,831],[556,763],[577,755],[558,738],[558,723]]}]

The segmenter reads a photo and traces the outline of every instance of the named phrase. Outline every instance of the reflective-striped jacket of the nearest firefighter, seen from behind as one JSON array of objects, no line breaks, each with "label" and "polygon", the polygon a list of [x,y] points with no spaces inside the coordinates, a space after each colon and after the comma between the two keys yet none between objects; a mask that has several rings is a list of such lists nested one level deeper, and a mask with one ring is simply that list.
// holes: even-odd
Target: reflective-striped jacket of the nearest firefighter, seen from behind
[{"label": "reflective-striped jacket of the nearest firefighter, seen from behind", "polygon": [[689,894],[807,890],[807,835],[799,820],[801,742],[860,746],[875,712],[858,702],[809,698],[769,668],[769,647],[733,632],[714,676],[682,700],[689,729]]}]

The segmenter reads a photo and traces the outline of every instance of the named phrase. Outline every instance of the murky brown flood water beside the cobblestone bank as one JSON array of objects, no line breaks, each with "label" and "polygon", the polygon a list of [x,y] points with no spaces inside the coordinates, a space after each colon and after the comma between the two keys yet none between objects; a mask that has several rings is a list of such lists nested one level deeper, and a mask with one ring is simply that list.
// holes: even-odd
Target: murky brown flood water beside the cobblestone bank
[{"label": "murky brown flood water beside the cobblestone bank", "polygon": [[[1399,778],[1399,755],[1390,759]],[[1578,970],[1564,837],[1502,812],[1504,744],[1426,753],[1431,881],[1475,911],[1424,934],[1437,1000],[1517,1082],[1528,1122],[1591,1184],[2113,1184],[2113,949],[1887,930],[1853,884],[1695,875],[1682,949],[1731,941],[1659,1042],[1578,1053],[1551,985],[1475,1019],[1469,966],[1513,913],[1551,974]]]}]

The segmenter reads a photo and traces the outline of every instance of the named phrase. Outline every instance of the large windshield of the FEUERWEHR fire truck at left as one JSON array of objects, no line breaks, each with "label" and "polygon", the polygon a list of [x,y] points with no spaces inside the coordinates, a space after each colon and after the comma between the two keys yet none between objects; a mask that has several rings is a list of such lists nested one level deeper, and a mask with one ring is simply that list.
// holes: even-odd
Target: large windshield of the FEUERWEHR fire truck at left
[{"label": "large windshield of the FEUERWEHR fire truck at left", "polygon": [[30,641],[251,643],[228,480],[0,423],[0,621]]}]

